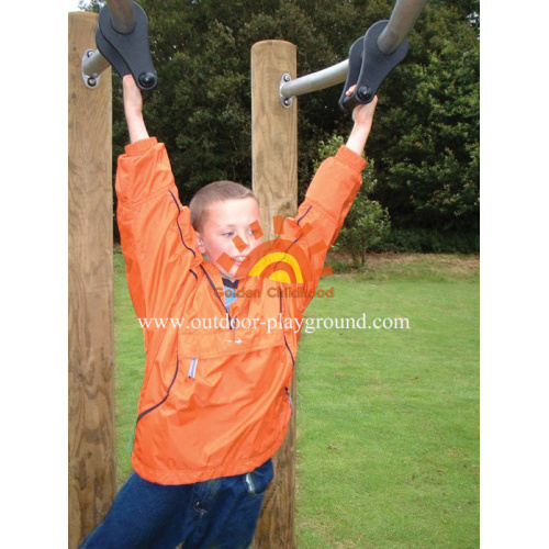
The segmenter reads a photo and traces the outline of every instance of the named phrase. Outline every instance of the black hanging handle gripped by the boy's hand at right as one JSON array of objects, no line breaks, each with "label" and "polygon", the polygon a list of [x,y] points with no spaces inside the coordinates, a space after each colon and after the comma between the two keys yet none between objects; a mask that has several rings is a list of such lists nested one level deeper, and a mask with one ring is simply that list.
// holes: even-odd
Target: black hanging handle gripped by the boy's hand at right
[{"label": "black hanging handle gripped by the boy's hand at right", "polygon": [[[384,54],[379,48],[378,38],[388,23],[389,21],[378,21],[350,46],[349,71],[339,98],[341,111],[352,113],[358,104],[372,101],[385,77],[406,57],[407,38],[391,54]],[[355,83],[355,91],[347,97],[347,90]]]}]

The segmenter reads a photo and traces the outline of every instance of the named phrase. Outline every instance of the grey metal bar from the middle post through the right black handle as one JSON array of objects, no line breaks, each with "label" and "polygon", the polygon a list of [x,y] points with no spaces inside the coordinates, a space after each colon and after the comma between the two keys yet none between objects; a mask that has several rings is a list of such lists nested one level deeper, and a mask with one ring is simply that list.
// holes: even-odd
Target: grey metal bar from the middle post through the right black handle
[{"label": "grey metal bar from the middle post through the right black handle", "polygon": [[[384,54],[393,53],[406,38],[428,0],[396,0],[389,23],[378,38],[378,47]],[[349,59],[332,67],[302,76],[295,80],[282,79],[279,93],[282,104],[289,107],[290,99],[312,91],[323,90],[345,82]]]}]

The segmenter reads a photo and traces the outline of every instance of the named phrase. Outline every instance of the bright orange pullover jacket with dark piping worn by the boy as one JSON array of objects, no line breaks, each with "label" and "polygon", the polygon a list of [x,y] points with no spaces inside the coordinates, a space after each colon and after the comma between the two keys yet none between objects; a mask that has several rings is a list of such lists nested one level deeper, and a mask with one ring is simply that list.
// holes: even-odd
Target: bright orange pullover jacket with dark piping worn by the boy
[{"label": "bright orange pullover jacket with dark piping worn by the boy", "polygon": [[[132,453],[139,475],[186,484],[250,471],[277,451],[291,415],[288,388],[300,335],[296,324],[284,321],[302,320],[365,166],[346,147],[322,164],[299,214],[283,224],[313,279],[295,296],[281,296],[277,289],[288,284],[268,278],[240,280],[238,290],[250,296],[231,303],[228,316],[239,321],[232,328],[215,291],[223,289],[221,273],[197,249],[165,146],[150,137],[126,147],[115,189],[137,317],[184,318],[181,327],[144,327],[147,358]],[[312,225],[306,235],[305,224]],[[324,249],[311,253],[321,239]]]}]

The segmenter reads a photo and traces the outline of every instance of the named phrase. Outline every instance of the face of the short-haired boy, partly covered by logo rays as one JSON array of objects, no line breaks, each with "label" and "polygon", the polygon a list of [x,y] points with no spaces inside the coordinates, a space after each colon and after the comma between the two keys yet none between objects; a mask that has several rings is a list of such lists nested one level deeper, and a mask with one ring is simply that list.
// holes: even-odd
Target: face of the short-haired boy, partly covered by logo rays
[{"label": "face of the short-haired boy, partly covered by logo rays", "polygon": [[[208,254],[210,261],[231,280],[235,280],[244,258],[261,244],[261,239],[256,239],[250,228],[255,221],[259,222],[259,206],[251,197],[215,202],[208,209],[202,231],[197,233],[199,251]],[[239,236],[246,244],[242,251],[233,243],[235,236]],[[228,272],[217,264],[223,253],[235,260]]]}]

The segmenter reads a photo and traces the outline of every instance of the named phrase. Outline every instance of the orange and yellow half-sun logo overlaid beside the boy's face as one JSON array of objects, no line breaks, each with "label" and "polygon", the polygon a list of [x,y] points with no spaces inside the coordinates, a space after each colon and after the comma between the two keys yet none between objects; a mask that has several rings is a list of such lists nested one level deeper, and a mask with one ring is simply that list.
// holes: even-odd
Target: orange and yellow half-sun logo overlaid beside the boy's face
[{"label": "orange and yellow half-sun logo overlaid beside the boy's face", "polygon": [[[272,222],[274,233],[280,235],[283,226],[282,215],[274,215]],[[264,235],[261,226],[257,221],[250,225],[250,229],[256,239],[261,238]],[[262,277],[279,282],[301,284],[303,282],[312,282],[316,277],[332,274],[332,267],[329,266],[322,267],[316,273],[312,272],[307,254],[296,244],[302,236],[307,235],[311,231],[313,231],[313,226],[307,223],[301,227],[301,233],[294,240],[274,238],[260,244],[246,256],[246,259],[238,267],[235,278]],[[238,251],[246,248],[246,244],[239,236],[235,236],[233,243]],[[326,244],[323,240],[318,240],[309,247],[309,256],[326,251]],[[217,258],[217,264],[228,272],[233,268],[235,260],[223,253]]]}]

